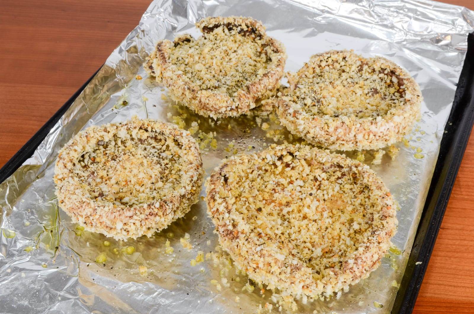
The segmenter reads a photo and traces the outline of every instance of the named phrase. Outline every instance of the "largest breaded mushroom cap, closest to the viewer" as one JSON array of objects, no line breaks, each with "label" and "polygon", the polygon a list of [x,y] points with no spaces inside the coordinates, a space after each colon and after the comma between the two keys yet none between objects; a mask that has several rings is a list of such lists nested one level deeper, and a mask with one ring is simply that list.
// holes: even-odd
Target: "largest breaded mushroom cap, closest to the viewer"
[{"label": "largest breaded mushroom cap, closest to the viewer", "polygon": [[219,242],[282,295],[331,296],[380,265],[396,232],[392,195],[366,165],[272,145],[230,157],[206,182]]}]

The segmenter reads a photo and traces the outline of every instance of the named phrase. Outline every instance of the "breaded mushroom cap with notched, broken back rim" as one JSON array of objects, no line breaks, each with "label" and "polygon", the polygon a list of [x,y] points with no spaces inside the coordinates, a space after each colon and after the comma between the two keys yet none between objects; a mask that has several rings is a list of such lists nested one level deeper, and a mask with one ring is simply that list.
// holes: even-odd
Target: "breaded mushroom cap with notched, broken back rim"
[{"label": "breaded mushroom cap with notched, broken back rim", "polygon": [[283,45],[263,25],[243,17],[196,23],[202,36],[161,40],[144,67],[175,101],[203,116],[235,117],[273,95],[283,76]]}]

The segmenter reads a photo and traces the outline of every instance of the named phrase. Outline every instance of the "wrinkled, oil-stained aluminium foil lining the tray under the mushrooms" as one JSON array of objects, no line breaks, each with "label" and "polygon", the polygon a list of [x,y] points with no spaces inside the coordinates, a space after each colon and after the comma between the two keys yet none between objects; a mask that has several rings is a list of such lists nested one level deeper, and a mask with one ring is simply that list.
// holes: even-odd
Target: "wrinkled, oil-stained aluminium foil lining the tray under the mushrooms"
[{"label": "wrinkled, oil-stained aluminium foil lining the tray under the mushrooms", "polygon": [[[466,36],[474,26],[473,11],[426,0],[152,2],[139,25],[113,51],[33,156],[0,185],[0,312],[254,313],[259,304],[273,304],[269,292],[265,297],[259,289],[242,292],[245,276],[237,282],[232,278],[238,276],[228,275],[230,286],[222,285],[217,291],[210,281],[221,282],[219,267],[210,260],[190,266],[198,250],[207,253],[217,244],[204,201],[152,238],[128,242],[107,239],[111,245],[105,247],[104,236],[75,229],[76,225],[58,209],[54,194],[52,176],[58,149],[79,130],[128,120],[133,115],[170,121],[168,112],[180,114],[173,103],[162,99],[166,91],[147,79],[142,62],[157,40],[173,39],[183,32],[199,36],[194,23],[218,15],[263,21],[268,34],[286,46],[287,71],[296,71],[315,53],[354,49],[365,56],[391,59],[419,83],[424,102],[421,119],[408,136],[409,147],[399,143],[399,156],[392,161],[386,154],[381,165],[370,165],[370,158],[366,160],[400,203],[398,233],[392,242],[402,253],[384,257],[370,277],[339,299],[299,303],[303,313],[390,312],[397,293],[392,281],[400,283],[410,254],[465,58]],[[136,75],[143,80],[137,80]],[[128,105],[121,105],[124,100]],[[202,156],[208,174],[231,154],[224,149],[229,140],[237,140],[239,151],[247,150],[248,145],[255,146],[253,151],[263,149],[264,143],[273,142],[252,125],[255,118],[227,119],[213,127],[207,118],[182,112],[188,115],[187,128],[192,121],[200,120],[201,130],[216,131],[218,149],[203,152]],[[245,132],[246,128],[250,133]],[[274,123],[272,128],[282,129]],[[415,158],[412,146],[421,148],[424,158]],[[169,232],[173,232],[173,238]],[[185,232],[191,236],[191,251],[180,245]],[[167,238],[174,248],[173,255],[164,254]],[[135,252],[122,253],[126,246],[134,246]],[[113,253],[114,248],[118,254]],[[105,266],[94,262],[101,252],[107,255]],[[147,267],[146,276],[140,276],[140,265]],[[236,296],[240,302],[235,301]],[[374,301],[383,308],[376,308]]]}]

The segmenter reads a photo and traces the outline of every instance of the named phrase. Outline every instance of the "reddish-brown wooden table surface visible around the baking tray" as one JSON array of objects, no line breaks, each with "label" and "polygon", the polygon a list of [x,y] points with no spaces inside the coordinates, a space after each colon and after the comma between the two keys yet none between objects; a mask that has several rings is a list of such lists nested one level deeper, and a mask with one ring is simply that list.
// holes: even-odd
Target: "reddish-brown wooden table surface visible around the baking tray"
[{"label": "reddish-brown wooden table surface visible around the baking tray", "polygon": [[[0,1],[0,166],[106,60],[150,0]],[[445,2],[474,9],[474,0]],[[415,313],[474,313],[471,136]]]}]

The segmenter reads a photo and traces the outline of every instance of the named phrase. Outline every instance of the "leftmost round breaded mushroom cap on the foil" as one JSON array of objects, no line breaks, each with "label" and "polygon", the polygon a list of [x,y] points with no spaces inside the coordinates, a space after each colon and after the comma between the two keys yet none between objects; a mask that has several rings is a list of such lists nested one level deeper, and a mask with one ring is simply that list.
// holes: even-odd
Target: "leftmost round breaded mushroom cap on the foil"
[{"label": "leftmost round breaded mushroom cap on the foil", "polygon": [[156,120],[92,126],[59,151],[59,205],[86,230],[117,240],[151,236],[197,203],[203,178],[188,131]]}]

